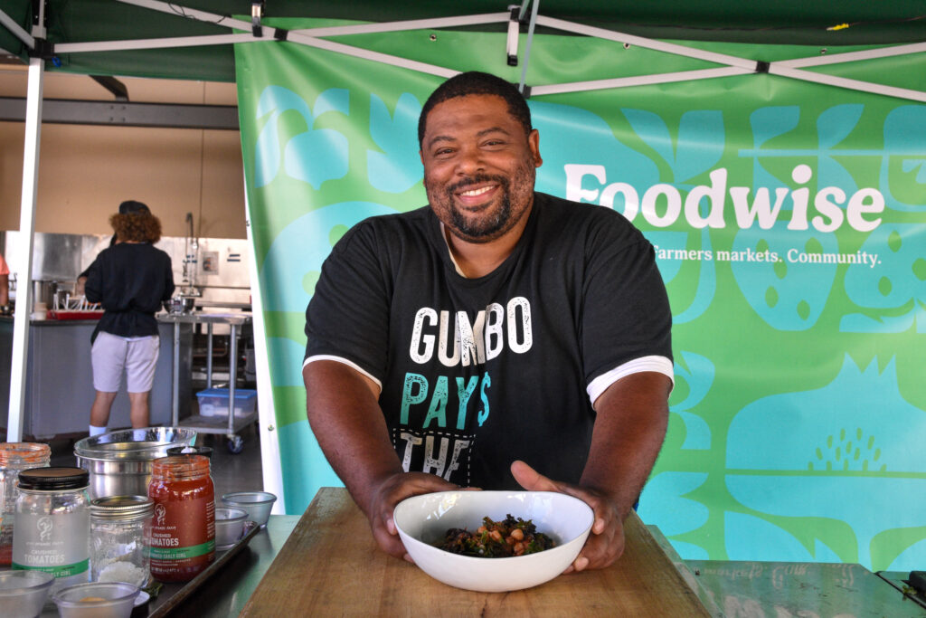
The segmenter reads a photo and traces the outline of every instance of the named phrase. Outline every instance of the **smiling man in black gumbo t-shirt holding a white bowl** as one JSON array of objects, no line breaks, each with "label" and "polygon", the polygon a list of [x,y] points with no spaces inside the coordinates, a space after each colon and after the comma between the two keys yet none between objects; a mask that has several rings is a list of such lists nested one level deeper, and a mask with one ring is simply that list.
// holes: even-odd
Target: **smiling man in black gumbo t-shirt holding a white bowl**
[{"label": "smiling man in black gumbo t-shirt holding a white bowl", "polygon": [[303,365],[312,430],[395,556],[400,500],[524,487],[591,505],[573,568],[607,566],[669,413],[653,247],[613,210],[534,192],[540,136],[493,75],[435,90],[419,144],[429,206],[360,222],[322,267]]}]

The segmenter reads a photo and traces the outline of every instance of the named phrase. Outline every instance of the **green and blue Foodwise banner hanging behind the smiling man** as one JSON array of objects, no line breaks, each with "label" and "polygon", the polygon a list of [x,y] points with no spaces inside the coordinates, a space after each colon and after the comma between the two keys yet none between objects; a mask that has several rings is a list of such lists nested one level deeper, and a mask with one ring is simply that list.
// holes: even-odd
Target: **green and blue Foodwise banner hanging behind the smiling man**
[{"label": "green and blue Foodwise banner hanging behind the smiling man", "polygon": [[[501,34],[336,40],[520,79]],[[821,70],[919,87],[923,56]],[[236,63],[286,510],[299,512],[340,485],[307,426],[304,311],[350,226],[426,203],[416,126],[442,80],[292,43],[237,45]],[[526,82],[713,66],[544,35]],[[530,106],[538,190],[623,213],[657,247],[669,290],[676,385],[644,522],[686,559],[922,568],[926,106],[770,74]]]}]

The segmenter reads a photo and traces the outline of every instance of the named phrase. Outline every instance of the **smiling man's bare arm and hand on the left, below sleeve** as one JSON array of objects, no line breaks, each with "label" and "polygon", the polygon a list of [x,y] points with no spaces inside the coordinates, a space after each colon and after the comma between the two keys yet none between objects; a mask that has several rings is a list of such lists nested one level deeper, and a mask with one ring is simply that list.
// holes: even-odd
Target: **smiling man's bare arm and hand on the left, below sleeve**
[{"label": "smiling man's bare arm and hand on the left, below sleeve", "polygon": [[302,375],[308,423],[325,457],[367,515],[380,547],[407,558],[393,523],[395,505],[457,486],[434,474],[403,472],[380,409],[380,387],[367,376],[335,360],[310,362]]}]

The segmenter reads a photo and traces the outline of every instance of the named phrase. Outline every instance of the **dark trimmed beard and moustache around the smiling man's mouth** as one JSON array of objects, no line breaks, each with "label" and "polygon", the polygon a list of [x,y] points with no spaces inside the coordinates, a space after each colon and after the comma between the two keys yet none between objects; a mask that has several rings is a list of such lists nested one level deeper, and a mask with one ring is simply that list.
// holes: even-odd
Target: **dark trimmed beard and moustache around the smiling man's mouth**
[{"label": "dark trimmed beard and moustache around the smiling man's mouth", "polygon": [[[514,185],[518,187],[516,192],[519,192],[519,195],[514,195],[516,200],[526,201],[531,198],[534,180],[532,171],[533,168],[527,165],[516,170],[513,179]],[[502,194],[494,211],[482,218],[470,218],[465,211],[461,211],[456,207],[454,195],[459,191],[465,191],[466,187],[478,183],[498,183]],[[523,209],[519,209],[518,219],[514,218],[511,207],[511,185],[512,183],[505,176],[476,174],[448,186],[443,194],[440,194],[443,199],[439,200],[437,206],[444,211],[444,216],[449,217],[452,233],[470,243],[488,243],[510,230],[518,222],[520,216],[523,215]],[[427,189],[427,186],[425,188]]]}]

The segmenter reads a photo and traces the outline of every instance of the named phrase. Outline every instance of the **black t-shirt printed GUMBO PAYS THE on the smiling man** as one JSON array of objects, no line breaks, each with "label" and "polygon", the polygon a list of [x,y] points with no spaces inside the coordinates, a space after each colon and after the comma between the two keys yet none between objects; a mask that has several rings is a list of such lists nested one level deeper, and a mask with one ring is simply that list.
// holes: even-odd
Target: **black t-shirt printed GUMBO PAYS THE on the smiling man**
[{"label": "black t-shirt printed GUMBO PAYS THE on the smiling man", "polygon": [[307,358],[353,363],[407,471],[517,488],[525,460],[578,482],[594,425],[586,387],[671,358],[653,247],[608,208],[535,194],[510,256],[460,275],[431,208],[361,221],[334,246],[307,308]]}]

